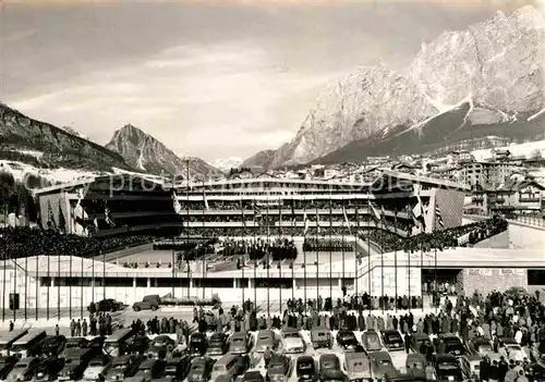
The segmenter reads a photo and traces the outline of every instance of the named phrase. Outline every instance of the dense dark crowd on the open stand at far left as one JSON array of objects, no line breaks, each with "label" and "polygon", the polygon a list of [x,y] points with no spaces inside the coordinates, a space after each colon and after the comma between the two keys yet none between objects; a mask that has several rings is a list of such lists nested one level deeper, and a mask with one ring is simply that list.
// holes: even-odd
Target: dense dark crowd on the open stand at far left
[{"label": "dense dark crowd on the open stand at far left", "polygon": [[145,235],[95,238],[38,227],[4,227],[0,229],[0,259],[39,255],[93,257],[152,243],[155,237]]}]

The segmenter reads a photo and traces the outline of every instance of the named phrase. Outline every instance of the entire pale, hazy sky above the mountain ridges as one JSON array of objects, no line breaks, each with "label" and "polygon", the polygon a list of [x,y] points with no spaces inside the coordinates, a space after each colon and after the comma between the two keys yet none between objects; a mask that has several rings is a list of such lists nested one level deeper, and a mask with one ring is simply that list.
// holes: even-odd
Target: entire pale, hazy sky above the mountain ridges
[{"label": "entire pale, hazy sky above the mountain ridges", "polygon": [[107,144],[131,123],[180,156],[296,134],[328,83],[528,1],[0,0],[0,101]]}]

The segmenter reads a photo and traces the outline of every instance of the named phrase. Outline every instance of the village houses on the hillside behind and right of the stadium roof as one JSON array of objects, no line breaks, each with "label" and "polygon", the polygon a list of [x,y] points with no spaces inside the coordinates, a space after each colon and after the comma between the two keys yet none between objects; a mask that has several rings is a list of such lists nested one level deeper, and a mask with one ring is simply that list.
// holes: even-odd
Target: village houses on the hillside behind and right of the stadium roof
[{"label": "village houses on the hillside behind and right of the stadium roof", "polygon": [[493,149],[492,158],[476,160],[469,150],[451,150],[398,158],[370,157],[364,162],[308,165],[262,171],[231,169],[230,180],[255,177],[317,178],[343,182],[372,182],[382,170],[444,178],[471,187],[464,213],[501,213],[511,218],[543,218],[545,207],[545,159],[538,152],[513,156],[507,149]]}]

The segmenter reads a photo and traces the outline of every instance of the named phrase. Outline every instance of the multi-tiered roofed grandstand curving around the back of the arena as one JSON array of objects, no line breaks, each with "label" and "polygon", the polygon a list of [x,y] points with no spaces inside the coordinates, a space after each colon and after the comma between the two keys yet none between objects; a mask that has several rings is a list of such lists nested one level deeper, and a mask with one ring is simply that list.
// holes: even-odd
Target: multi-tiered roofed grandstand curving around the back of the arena
[{"label": "multi-tiered roofed grandstand curving around the back of the arena", "polygon": [[96,237],[340,235],[368,226],[409,236],[438,223],[460,225],[467,190],[385,170],[368,183],[269,177],[173,186],[121,174],[43,188],[36,197],[43,226]]}]

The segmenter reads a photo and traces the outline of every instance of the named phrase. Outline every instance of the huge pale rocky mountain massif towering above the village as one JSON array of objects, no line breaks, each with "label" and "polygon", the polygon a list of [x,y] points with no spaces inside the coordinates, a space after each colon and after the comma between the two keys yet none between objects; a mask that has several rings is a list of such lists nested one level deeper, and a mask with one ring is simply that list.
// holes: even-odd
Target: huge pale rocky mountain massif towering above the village
[{"label": "huge pale rocky mountain massif towering above the village", "polygon": [[290,143],[254,158],[276,168],[425,152],[487,135],[533,138],[545,119],[544,58],[543,13],[498,12],[423,44],[405,73],[359,67],[330,84]]}]

